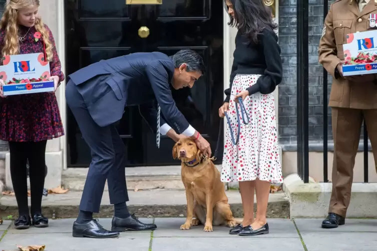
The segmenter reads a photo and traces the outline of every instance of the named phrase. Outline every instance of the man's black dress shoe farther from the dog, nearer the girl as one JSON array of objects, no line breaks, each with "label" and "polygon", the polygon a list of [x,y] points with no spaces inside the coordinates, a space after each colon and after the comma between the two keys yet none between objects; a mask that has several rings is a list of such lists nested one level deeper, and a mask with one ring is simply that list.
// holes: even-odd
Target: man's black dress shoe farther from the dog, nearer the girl
[{"label": "man's black dress shoe farther from the dog, nearer the girl", "polygon": [[72,236],[74,237],[113,238],[118,237],[118,235],[119,232],[106,230],[94,219],[82,224],[73,222]]}]

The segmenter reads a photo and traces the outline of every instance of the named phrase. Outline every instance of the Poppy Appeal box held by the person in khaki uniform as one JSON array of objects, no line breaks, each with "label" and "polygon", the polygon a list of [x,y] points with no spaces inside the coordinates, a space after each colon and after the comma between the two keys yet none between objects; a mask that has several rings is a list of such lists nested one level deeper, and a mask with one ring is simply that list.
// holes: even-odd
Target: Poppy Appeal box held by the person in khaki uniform
[{"label": "Poppy Appeal box held by the person in khaki uniform", "polygon": [[377,30],[347,34],[343,76],[377,73]]}]

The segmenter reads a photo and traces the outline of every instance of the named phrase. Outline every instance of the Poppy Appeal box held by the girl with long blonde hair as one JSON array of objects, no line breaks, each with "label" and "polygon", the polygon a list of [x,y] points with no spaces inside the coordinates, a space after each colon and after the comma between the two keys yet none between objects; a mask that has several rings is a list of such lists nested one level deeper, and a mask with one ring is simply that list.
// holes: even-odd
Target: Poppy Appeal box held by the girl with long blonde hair
[{"label": "Poppy Appeal box held by the girl with long blonde hair", "polygon": [[3,79],[4,96],[54,91],[50,77],[50,62],[44,53],[3,56],[0,79]]}]

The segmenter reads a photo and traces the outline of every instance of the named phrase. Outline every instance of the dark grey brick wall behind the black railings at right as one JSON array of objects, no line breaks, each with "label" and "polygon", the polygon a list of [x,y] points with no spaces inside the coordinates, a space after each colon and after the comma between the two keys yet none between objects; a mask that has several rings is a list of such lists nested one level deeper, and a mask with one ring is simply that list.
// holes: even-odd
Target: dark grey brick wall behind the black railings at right
[{"label": "dark grey brick wall behind the black railings at right", "polygon": [[[329,0],[329,4],[333,2]],[[297,0],[279,0],[279,44],[283,60],[283,81],[279,86],[279,142],[295,150],[297,140]],[[309,146],[323,142],[323,67],[318,63],[318,43],[323,28],[323,0],[309,0]],[[328,76],[328,93],[331,76]],[[327,98],[328,100],[328,98]],[[328,139],[332,139],[328,109]]]}]

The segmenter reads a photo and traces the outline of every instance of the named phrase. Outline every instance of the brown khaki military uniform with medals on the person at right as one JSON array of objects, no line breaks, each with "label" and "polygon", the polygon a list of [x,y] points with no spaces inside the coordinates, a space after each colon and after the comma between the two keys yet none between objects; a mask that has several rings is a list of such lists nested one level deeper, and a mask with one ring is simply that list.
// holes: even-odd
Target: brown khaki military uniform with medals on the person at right
[{"label": "brown khaki military uniform with medals on the person at right", "polygon": [[344,59],[342,44],[346,43],[348,33],[377,30],[377,26],[369,26],[369,14],[377,14],[377,0],[361,1],[337,0],[331,4],[318,49],[319,62],[333,76],[328,103],[334,139],[329,212],[344,217],[363,119],[377,161],[377,74],[342,77],[336,69]]}]

